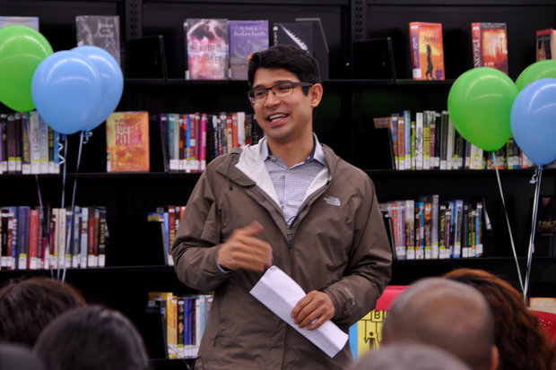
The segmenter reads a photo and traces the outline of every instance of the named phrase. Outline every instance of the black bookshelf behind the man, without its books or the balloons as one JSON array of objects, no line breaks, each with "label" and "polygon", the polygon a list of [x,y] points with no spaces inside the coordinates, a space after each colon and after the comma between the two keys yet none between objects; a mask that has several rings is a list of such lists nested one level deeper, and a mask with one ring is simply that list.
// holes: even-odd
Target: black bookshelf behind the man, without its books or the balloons
[{"label": "black bookshelf behind the man, without its books or the balloons", "polygon": [[[291,22],[296,17],[320,17],[330,47],[330,79],[323,82],[325,96],[317,109],[315,131],[344,159],[357,162],[352,134],[370,130],[372,118],[401,109],[446,109],[447,93],[456,77],[471,68],[471,22],[507,22],[509,75],[517,75],[534,62],[534,30],[556,25],[553,0],[0,0],[2,15],[39,15],[41,33],[55,51],[75,46],[74,17],[80,14],[120,15],[125,40],[161,34],[167,51],[168,79],[126,79],[117,110],[148,110],[152,113],[204,111],[250,111],[247,82],[185,81],[183,21],[187,17],[267,19]],[[446,81],[411,80],[409,30],[411,21],[442,22]],[[352,71],[352,42],[391,37],[397,79],[358,79]],[[125,50],[122,50],[125,58]],[[0,112],[8,108],[0,107]],[[93,130],[83,148],[82,165],[74,174],[78,138],[70,137],[66,194],[77,177],[76,204],[104,205],[108,209],[110,245],[107,268],[70,269],[67,280],[81,289],[91,302],[103,303],[126,314],[152,340],[145,329],[144,305],[150,290],[189,292],[172,268],[152,263],[159,245],[144,242],[140,230],[148,211],[165,204],[185,204],[198,175],[164,173],[152,167],[147,174],[105,172],[104,125]],[[357,151],[358,156],[377,155],[379,148]],[[155,150],[156,151],[156,150]],[[72,155],[71,153],[74,153]],[[160,155],[153,152],[152,156]],[[492,170],[395,171],[363,168],[377,185],[378,199],[415,198],[440,194],[443,199],[486,199],[493,232],[480,259],[400,261],[394,263],[392,284],[409,284],[424,276],[440,275],[455,267],[477,267],[500,273],[517,286],[516,267],[509,248],[508,228],[500,205],[496,175]],[[500,176],[519,262],[525,265],[529,237],[529,184],[533,169],[501,170]],[[4,191],[0,205],[38,205],[34,176],[2,175]],[[59,206],[62,178],[39,175],[44,202]],[[556,170],[543,172],[542,194],[556,194]],[[55,272],[56,273],[56,272]],[[48,271],[0,271],[0,283]],[[556,258],[534,258],[530,293],[554,297]],[[188,364],[191,362],[189,361]],[[181,366],[181,361],[153,360],[157,369]]]}]

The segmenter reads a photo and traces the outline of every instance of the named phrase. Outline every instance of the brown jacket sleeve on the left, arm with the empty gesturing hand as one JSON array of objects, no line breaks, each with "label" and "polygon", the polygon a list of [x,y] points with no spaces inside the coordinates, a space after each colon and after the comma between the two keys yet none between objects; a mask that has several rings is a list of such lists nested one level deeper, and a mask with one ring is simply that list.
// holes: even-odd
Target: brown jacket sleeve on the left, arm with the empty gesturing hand
[{"label": "brown jacket sleeve on the left, arm with the empty gesturing hand", "polygon": [[216,262],[221,222],[208,174],[205,170],[195,185],[172,245],[178,279],[189,288],[204,291],[215,289],[229,277]]}]

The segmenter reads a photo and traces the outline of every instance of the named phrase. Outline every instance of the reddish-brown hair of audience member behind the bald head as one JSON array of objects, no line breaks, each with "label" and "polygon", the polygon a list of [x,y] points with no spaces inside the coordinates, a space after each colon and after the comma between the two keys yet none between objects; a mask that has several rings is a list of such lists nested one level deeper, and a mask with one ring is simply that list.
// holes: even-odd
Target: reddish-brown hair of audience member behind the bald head
[{"label": "reddish-brown hair of audience member behind the bald head", "polygon": [[477,288],[491,305],[500,370],[551,368],[554,356],[551,341],[536,315],[526,307],[523,295],[507,280],[473,269],[456,269],[445,277]]}]

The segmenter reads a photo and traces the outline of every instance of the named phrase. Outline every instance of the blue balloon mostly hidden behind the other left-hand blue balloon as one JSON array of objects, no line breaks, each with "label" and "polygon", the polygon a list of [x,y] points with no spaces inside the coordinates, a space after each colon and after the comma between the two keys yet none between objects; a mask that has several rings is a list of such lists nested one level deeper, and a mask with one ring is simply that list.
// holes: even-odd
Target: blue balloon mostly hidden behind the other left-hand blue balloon
[{"label": "blue balloon mostly hidden behind the other left-hand blue balloon", "polygon": [[72,51],[91,59],[92,64],[97,67],[100,73],[102,86],[100,108],[83,128],[83,131],[89,131],[100,125],[116,109],[124,91],[124,75],[114,56],[100,47],[74,47]]}]

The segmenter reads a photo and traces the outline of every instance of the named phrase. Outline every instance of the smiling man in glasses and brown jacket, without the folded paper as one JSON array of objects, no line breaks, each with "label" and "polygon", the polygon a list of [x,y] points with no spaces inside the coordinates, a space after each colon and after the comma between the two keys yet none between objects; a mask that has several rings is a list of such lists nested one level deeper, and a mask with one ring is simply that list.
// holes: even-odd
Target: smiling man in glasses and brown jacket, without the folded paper
[{"label": "smiling man in glasses and brown jacket, without the folded paper", "polygon": [[214,290],[195,368],[347,368],[347,344],[327,357],[249,290],[274,264],[308,292],[291,312],[300,328],[332,320],[347,332],[390,280],[374,185],[313,133],[323,87],[312,56],[271,47],[252,56],[248,80],[265,138],[207,166],[172,250],[179,280]]}]

